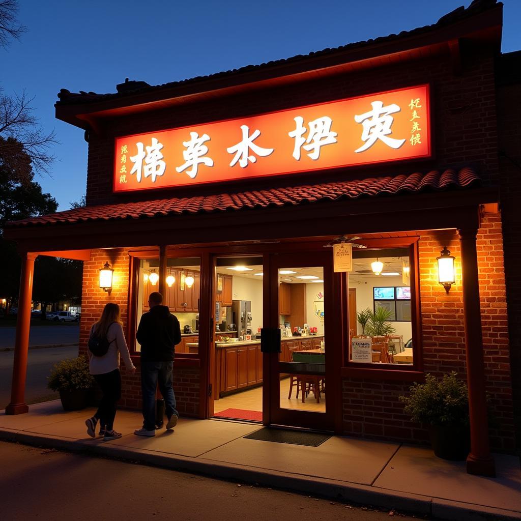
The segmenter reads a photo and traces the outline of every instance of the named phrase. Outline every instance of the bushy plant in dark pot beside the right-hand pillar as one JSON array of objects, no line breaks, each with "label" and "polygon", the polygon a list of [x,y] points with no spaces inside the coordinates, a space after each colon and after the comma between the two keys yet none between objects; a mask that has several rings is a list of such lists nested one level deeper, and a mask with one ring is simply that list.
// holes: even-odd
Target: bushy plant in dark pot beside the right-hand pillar
[{"label": "bushy plant in dark pot beside the right-hand pillar", "polygon": [[434,453],[444,460],[465,460],[470,450],[466,383],[455,371],[441,380],[428,374],[425,383],[414,383],[410,391],[400,396],[404,412],[428,426]]}]

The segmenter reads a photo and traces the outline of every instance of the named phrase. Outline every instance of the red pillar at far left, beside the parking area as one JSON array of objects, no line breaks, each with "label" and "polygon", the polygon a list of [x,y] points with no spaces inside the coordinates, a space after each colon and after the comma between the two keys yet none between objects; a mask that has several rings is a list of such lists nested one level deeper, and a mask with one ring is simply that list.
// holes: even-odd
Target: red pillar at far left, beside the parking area
[{"label": "red pillar at far left, beside the parking area", "polygon": [[16,320],[15,361],[13,382],[11,383],[11,402],[5,414],[23,414],[29,411],[25,403],[27,354],[29,351],[29,327],[31,325],[31,297],[34,276],[35,253],[22,255],[20,275],[20,294],[18,296],[18,317]]}]

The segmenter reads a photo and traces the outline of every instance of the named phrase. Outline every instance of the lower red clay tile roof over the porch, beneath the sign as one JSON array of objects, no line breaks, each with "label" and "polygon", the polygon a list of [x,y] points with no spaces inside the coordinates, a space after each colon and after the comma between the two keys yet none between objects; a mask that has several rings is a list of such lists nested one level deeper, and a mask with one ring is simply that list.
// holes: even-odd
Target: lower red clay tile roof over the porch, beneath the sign
[{"label": "lower red clay tile roof over the porch, beneath the sign", "polygon": [[411,173],[396,176],[372,177],[354,181],[338,181],[309,184],[298,187],[271,188],[232,194],[194,197],[169,197],[137,203],[85,206],[9,222],[6,228],[73,224],[83,221],[117,219],[148,219],[181,214],[207,214],[238,212],[248,208],[268,208],[317,204],[324,201],[359,199],[414,194],[426,191],[461,190],[481,184],[480,177],[470,167],[460,170],[432,170],[427,173]]}]

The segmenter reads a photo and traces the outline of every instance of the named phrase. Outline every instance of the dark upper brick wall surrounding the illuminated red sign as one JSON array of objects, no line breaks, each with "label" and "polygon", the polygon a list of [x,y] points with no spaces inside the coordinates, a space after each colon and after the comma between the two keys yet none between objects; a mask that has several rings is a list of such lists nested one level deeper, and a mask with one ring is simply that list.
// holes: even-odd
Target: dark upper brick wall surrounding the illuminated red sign
[{"label": "dark upper brick wall surrounding the illuminated red sign", "polygon": [[[425,172],[432,168],[468,164],[473,164],[483,176],[492,179],[498,170],[493,57],[482,49],[476,55],[464,52],[463,64],[460,76],[453,75],[449,57],[445,56],[307,80],[248,94],[230,95],[214,102],[191,102],[107,120],[103,135],[90,135],[87,202],[90,205],[194,194],[194,190],[190,191],[189,188],[155,193],[149,190],[143,194],[113,194],[110,172],[113,170],[114,136],[184,127],[423,83],[431,85],[435,144],[435,157],[432,159],[405,165],[379,165],[377,170],[374,167],[356,167],[342,172],[323,171],[318,174],[288,176],[279,181],[276,178],[261,179],[250,181],[248,188],[272,188],[274,182],[284,185],[305,184],[415,170]],[[203,195],[227,190],[241,190],[241,185],[199,185],[195,193]]]}]

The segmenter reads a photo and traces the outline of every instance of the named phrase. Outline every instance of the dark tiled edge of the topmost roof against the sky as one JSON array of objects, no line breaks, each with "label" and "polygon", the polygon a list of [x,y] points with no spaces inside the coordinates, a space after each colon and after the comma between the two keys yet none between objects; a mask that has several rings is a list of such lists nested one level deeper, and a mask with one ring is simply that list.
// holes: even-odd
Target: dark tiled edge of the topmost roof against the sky
[{"label": "dark tiled edge of the topmost roof against the sky", "polygon": [[351,51],[353,49],[358,49],[362,47],[369,47],[374,44],[391,43],[397,40],[404,40],[406,38],[410,38],[411,36],[428,33],[449,26],[450,24],[475,16],[481,13],[482,11],[493,8],[496,5],[497,0],[473,0],[473,2],[466,9],[463,6],[457,7],[450,13],[442,16],[436,23],[433,23],[429,26],[418,27],[416,29],[412,29],[411,31],[402,31],[399,34],[389,34],[387,36],[380,36],[379,38],[375,39],[349,43],[335,48],[326,48],[322,49],[321,51],[311,52],[306,55],[299,54],[296,56],[292,56],[291,58],[268,61],[267,63],[263,63],[260,65],[246,65],[245,67],[241,67],[239,69],[216,72],[207,76],[198,76],[195,78],[189,78],[180,81],[172,81],[169,83],[163,83],[162,85],[151,86],[144,81],[126,81],[125,83],[120,83],[119,85],[117,85],[118,92],[107,94],[97,94],[95,92],[84,91],[76,93],[70,92],[67,89],[61,89],[58,93],[58,101],[56,102],[56,105],[77,105],[82,103],[93,103],[101,100],[116,99],[136,93],[154,92],[162,89],[171,89],[181,85],[188,85],[201,81],[206,81],[208,79],[227,78],[237,76],[243,72],[269,69],[272,67],[279,67],[280,65],[285,64],[299,63],[309,58],[333,55],[335,53]]}]

